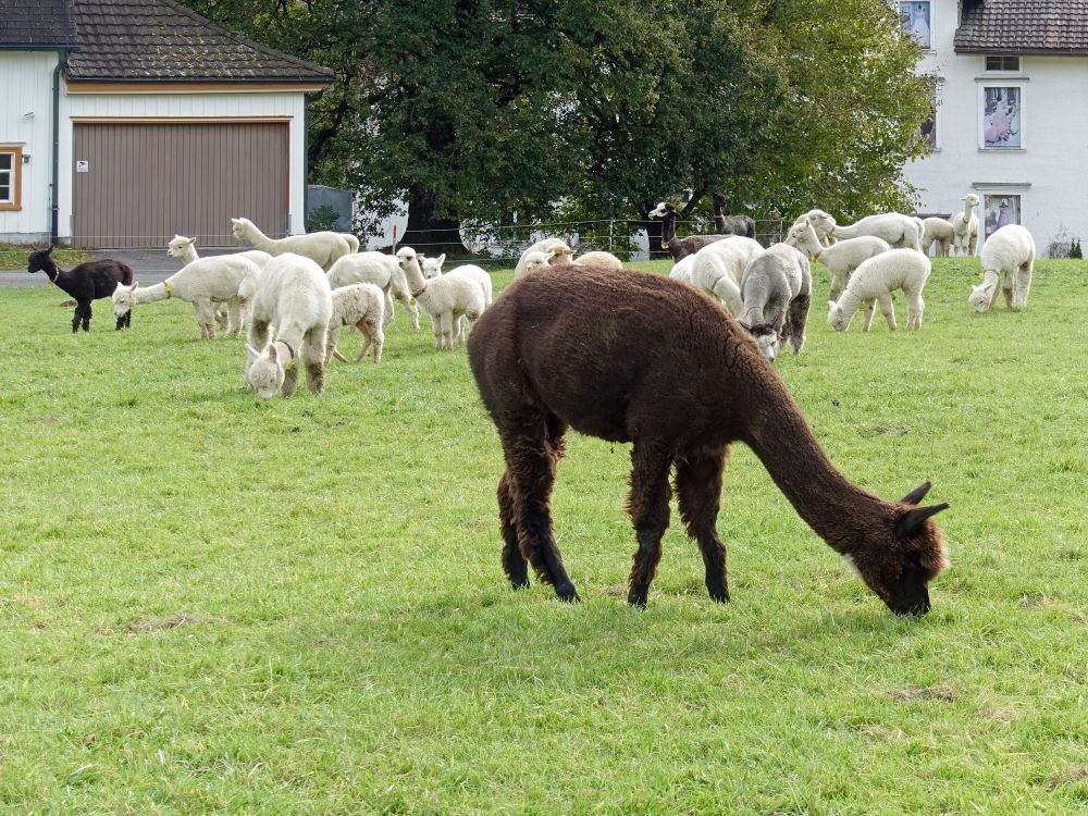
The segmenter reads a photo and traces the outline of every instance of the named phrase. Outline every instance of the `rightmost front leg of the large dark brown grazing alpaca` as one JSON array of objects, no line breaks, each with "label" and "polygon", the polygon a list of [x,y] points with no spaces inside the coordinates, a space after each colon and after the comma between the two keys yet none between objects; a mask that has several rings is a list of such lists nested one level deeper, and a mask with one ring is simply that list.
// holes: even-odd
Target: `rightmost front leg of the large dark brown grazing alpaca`
[{"label": "rightmost front leg of the large dark brown grazing alpaca", "polygon": [[688,535],[698,542],[706,567],[706,589],[718,603],[729,599],[726,547],[715,529],[721,506],[721,473],[728,456],[728,446],[701,450],[678,460],[676,475],[680,518],[688,528]]}]

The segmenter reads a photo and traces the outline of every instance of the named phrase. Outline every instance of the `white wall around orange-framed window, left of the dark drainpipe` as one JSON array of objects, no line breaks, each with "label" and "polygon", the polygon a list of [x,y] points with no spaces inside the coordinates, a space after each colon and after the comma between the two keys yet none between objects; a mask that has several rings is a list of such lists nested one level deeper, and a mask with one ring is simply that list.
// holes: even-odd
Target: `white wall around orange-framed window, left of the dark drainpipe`
[{"label": "white wall around orange-framed window, left of the dark drainpipe", "polygon": [[[0,51],[0,144],[22,145],[22,208],[0,211],[0,240],[49,239],[54,51]],[[33,115],[26,115],[33,111]]]}]

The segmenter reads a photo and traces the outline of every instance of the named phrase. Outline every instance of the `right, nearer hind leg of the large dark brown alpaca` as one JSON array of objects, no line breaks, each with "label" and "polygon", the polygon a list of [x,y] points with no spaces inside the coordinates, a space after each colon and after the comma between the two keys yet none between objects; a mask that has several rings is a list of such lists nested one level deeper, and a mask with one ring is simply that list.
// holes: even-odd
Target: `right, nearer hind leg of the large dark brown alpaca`
[{"label": "right, nearer hind leg of the large dark brown alpaca", "polygon": [[537,416],[499,431],[506,454],[518,548],[542,583],[564,601],[579,601],[552,534],[552,486],[562,456],[566,428],[555,417]]}]

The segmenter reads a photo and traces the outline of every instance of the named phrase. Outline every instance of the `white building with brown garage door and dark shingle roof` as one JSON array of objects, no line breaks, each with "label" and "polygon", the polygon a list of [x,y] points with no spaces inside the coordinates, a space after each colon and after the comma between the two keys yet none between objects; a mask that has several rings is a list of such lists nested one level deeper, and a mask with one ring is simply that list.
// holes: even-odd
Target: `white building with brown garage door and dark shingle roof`
[{"label": "white building with brown garage door and dark shingle roof", "polygon": [[0,0],[0,240],[305,232],[306,98],[326,69],[173,0]]}]

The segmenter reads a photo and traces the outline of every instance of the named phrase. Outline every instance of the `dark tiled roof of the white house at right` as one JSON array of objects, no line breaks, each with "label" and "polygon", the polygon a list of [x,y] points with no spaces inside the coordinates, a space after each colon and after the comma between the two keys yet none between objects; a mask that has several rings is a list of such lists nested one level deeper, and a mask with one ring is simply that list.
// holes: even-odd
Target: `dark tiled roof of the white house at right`
[{"label": "dark tiled roof of the white house at right", "polygon": [[964,2],[960,53],[1088,54],[1088,0]]}]

